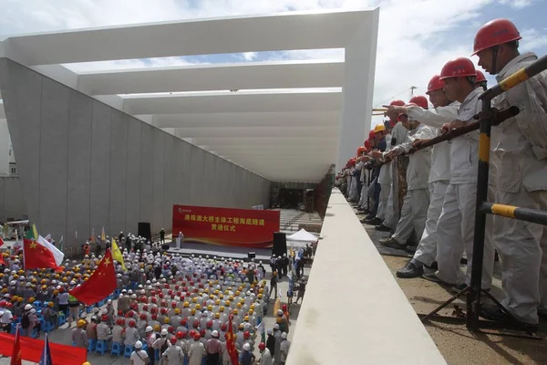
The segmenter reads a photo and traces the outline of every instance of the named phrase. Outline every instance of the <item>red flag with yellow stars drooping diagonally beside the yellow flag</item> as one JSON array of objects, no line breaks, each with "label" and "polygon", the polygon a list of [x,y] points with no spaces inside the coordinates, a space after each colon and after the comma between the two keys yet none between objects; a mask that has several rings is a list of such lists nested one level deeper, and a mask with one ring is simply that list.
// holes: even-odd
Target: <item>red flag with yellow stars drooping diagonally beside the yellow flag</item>
[{"label": "red flag with yellow stars drooping diagonally beside the yellow flag", "polygon": [[69,293],[77,297],[80,302],[90,306],[108,297],[117,287],[114,261],[108,249],[88,281],[82,286],[70,290]]}]

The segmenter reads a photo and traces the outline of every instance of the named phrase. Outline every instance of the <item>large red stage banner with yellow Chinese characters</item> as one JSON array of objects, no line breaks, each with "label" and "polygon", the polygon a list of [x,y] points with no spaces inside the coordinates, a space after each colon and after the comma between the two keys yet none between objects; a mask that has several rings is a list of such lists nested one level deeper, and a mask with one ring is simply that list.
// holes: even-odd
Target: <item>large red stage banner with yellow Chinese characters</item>
[{"label": "large red stage banner with yellow Chinese characters", "polygon": [[279,211],[173,205],[173,240],[210,245],[270,247],[279,231]]}]

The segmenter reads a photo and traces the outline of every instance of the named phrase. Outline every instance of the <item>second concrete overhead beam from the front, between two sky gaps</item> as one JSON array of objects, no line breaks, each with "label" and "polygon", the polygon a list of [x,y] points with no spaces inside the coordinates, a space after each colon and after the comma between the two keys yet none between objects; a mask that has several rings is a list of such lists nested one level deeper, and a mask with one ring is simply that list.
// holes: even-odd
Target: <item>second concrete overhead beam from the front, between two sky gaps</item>
[{"label": "second concrete overhead beam from the front, between two sky gaps", "polygon": [[333,88],[344,82],[344,62],[285,61],[139,68],[84,73],[91,95],[232,89]]}]

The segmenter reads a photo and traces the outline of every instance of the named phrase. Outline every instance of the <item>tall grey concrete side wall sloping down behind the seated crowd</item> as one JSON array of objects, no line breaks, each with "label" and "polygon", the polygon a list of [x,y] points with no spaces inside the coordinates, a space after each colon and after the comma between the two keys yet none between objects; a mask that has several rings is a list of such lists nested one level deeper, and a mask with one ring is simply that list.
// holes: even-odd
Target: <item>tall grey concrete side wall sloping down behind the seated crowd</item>
[{"label": "tall grey concrete side wall sloping down behind the seated crowd", "polygon": [[172,205],[250,208],[270,182],[8,58],[0,85],[26,211],[65,247],[107,235],[170,231]]}]

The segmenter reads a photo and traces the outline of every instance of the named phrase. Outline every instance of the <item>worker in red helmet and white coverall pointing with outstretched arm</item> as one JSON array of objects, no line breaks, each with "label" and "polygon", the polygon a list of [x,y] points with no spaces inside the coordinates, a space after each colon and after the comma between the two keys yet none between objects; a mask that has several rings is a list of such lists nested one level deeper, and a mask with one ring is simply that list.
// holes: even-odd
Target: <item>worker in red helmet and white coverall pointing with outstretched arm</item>
[{"label": "worker in red helmet and white coverall pointing with outstretched arm", "polygon": [[[458,119],[458,101],[450,101],[444,92],[444,82],[439,75],[435,75],[428,83],[429,101],[435,110],[428,110],[419,106],[392,107],[388,113],[404,113],[408,118],[420,120],[422,124],[435,129],[435,136],[440,134],[444,123]],[[418,146],[425,140],[414,141]],[[407,265],[397,270],[398,277],[418,277],[423,274],[424,266],[431,267],[437,255],[437,222],[444,196],[450,181],[450,145],[448,141],[433,146],[431,153],[431,171],[429,172],[429,207],[424,233],[418,243],[414,257]]]}]

